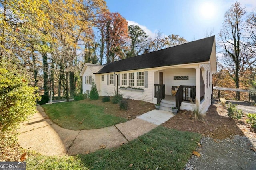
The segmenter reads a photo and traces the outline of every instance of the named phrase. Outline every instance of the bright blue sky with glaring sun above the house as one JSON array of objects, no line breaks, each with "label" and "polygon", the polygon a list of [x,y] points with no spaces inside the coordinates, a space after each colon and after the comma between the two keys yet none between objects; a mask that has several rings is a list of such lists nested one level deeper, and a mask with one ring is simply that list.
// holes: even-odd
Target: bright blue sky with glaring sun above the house
[{"label": "bright blue sky with glaring sun above the house", "polygon": [[[128,25],[135,23],[154,37],[180,35],[188,41],[218,35],[225,12],[236,0],[106,0],[110,12],[119,12]],[[256,10],[256,0],[240,0],[247,12]]]}]

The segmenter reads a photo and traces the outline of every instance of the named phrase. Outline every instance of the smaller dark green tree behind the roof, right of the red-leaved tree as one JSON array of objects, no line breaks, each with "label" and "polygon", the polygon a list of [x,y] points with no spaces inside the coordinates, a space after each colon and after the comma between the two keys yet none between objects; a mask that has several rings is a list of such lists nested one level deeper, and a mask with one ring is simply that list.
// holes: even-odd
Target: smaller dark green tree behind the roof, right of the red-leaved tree
[{"label": "smaller dark green tree behind the roof, right of the red-leaved tree", "polygon": [[146,43],[148,35],[138,25],[129,25],[130,51],[127,57],[136,56],[142,53],[142,47]]}]

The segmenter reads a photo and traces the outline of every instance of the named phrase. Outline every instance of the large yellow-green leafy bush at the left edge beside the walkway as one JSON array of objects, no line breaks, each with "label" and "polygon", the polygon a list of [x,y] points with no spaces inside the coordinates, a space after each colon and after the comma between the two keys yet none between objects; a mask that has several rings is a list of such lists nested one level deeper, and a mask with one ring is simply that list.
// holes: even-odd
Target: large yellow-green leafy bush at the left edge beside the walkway
[{"label": "large yellow-green leafy bush at the left edge beside the walkway", "polygon": [[16,143],[20,123],[36,113],[35,91],[21,75],[0,68],[0,150]]}]

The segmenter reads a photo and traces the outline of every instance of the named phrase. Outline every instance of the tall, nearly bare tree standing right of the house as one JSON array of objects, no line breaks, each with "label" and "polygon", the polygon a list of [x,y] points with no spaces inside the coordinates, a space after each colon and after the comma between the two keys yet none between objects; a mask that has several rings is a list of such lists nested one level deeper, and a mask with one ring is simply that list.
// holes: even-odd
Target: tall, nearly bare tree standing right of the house
[{"label": "tall, nearly bare tree standing right of the house", "polygon": [[[226,63],[229,75],[234,80],[236,88],[239,88],[239,77],[242,68],[244,68],[245,61],[242,45],[243,25],[245,10],[240,6],[239,2],[233,4],[225,13],[225,20],[223,22],[223,29],[219,36],[221,39],[221,46],[224,49],[224,63]],[[236,92],[236,99],[240,100],[240,92]]]}]

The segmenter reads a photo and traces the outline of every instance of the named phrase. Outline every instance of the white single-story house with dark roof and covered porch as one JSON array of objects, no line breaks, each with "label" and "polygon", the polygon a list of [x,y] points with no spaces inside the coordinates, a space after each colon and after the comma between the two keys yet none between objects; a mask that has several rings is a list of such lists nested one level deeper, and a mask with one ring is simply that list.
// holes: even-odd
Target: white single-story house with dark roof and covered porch
[{"label": "white single-story house with dark roof and covered porch", "polygon": [[144,53],[106,65],[85,63],[80,76],[84,93],[94,79],[100,96],[118,89],[124,98],[207,111],[212,103],[212,73],[217,71],[215,36]]}]

